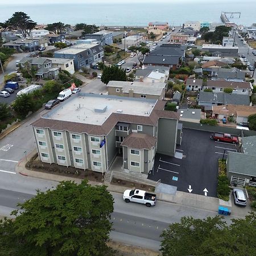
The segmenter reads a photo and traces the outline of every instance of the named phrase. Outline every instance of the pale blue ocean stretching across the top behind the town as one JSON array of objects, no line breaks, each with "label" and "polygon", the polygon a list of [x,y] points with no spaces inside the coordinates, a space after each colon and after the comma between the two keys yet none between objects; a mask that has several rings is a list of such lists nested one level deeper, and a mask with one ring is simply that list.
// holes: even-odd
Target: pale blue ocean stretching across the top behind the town
[{"label": "pale blue ocean stretching across the top behind the town", "polygon": [[[1,0],[2,2],[2,0]],[[42,1],[43,2],[43,1]],[[120,1],[121,2],[121,1]],[[181,26],[188,20],[221,22],[221,11],[241,12],[230,22],[250,26],[256,23],[256,0],[188,0],[170,3],[83,3],[83,4],[40,4],[2,5],[0,22],[9,19],[15,11],[23,11],[38,24],[64,22],[65,24],[87,23],[97,26],[147,26],[148,22],[168,22]]]}]

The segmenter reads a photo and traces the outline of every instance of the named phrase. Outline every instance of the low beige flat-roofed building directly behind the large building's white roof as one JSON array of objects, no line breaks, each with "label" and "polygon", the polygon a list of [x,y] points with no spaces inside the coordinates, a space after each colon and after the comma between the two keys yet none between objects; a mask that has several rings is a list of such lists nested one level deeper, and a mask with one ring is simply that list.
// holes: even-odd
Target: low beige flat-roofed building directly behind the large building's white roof
[{"label": "low beige flat-roofed building directly behind the large building's white roof", "polygon": [[164,100],[166,84],[164,82],[109,81],[107,88],[109,95]]}]

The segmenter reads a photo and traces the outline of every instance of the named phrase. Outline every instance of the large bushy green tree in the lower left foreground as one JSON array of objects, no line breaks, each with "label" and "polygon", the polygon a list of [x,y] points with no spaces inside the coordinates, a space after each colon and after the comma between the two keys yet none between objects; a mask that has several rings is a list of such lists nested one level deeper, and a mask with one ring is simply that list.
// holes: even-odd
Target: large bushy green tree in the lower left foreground
[{"label": "large bushy green tree in the lower left foreground", "polygon": [[[20,204],[16,219],[0,224],[1,251],[12,256],[110,255],[113,197],[105,186],[61,181],[56,189],[37,192]],[[10,255],[10,254],[9,254]]]}]

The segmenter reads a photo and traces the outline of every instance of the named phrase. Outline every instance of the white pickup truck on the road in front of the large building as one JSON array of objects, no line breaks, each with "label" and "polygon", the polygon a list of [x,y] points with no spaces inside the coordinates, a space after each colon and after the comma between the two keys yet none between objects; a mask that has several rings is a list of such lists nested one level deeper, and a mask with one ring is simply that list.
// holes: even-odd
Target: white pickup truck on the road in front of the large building
[{"label": "white pickup truck on the road in front of the large building", "polygon": [[125,192],[123,192],[123,200],[125,200],[126,203],[134,202],[139,204],[146,204],[146,207],[151,207],[156,203],[156,195],[147,193],[144,190],[127,189]]}]

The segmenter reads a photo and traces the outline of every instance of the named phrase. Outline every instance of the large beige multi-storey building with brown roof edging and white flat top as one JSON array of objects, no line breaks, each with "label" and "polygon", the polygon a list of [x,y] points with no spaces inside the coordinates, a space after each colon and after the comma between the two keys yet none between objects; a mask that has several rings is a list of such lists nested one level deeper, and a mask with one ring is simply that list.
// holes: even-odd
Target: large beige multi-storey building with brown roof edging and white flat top
[{"label": "large beige multi-storey building with brown roof edging and white flat top", "polygon": [[[148,175],[156,152],[175,155],[179,115],[166,101],[79,93],[32,123],[39,159],[81,170]],[[181,141],[181,135],[180,135]]]}]

